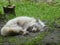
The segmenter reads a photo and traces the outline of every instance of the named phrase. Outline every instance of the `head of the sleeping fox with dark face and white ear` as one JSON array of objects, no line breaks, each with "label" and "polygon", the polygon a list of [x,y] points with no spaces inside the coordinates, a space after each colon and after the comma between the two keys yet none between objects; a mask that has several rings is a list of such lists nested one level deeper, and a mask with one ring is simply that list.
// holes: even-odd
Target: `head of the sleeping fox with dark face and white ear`
[{"label": "head of the sleeping fox with dark face and white ear", "polygon": [[41,20],[36,20],[35,23],[32,23],[31,26],[28,27],[27,31],[38,32],[38,31],[42,31],[44,27],[45,24]]}]

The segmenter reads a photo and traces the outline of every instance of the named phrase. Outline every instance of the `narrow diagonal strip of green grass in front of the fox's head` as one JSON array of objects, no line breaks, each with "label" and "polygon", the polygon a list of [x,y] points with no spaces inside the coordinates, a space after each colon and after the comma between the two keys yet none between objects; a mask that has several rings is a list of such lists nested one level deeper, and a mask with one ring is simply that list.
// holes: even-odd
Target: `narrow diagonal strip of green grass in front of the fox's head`
[{"label": "narrow diagonal strip of green grass in front of the fox's head", "polygon": [[46,36],[46,34],[49,34],[49,32],[41,33],[39,36],[29,41],[26,45],[42,45],[41,40]]}]

